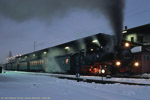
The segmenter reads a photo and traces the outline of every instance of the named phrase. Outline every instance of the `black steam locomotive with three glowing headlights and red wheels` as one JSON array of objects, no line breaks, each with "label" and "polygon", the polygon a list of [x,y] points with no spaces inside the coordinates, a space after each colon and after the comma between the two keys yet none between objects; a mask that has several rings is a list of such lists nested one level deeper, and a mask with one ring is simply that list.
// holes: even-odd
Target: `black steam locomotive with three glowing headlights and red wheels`
[{"label": "black steam locomotive with three glowing headlights and red wheels", "polygon": [[[79,53],[80,73],[86,75],[131,75],[133,69],[140,66],[131,52],[131,43],[122,42],[113,52],[107,52],[102,47],[88,48],[86,52]],[[84,54],[86,53],[86,54]],[[104,73],[103,73],[104,74]]]}]

